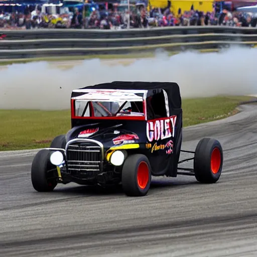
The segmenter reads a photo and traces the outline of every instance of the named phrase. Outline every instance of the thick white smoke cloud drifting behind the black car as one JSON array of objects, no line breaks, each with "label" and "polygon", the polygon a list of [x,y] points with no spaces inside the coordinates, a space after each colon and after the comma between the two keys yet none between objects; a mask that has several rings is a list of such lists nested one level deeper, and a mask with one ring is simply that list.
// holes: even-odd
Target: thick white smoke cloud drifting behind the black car
[{"label": "thick white smoke cloud drifting behind the black car", "polygon": [[157,52],[153,59],[126,66],[108,66],[99,59],[68,70],[47,62],[13,64],[0,70],[0,109],[68,109],[72,89],[115,80],[174,81],[182,98],[257,94],[256,56],[257,49],[233,48],[171,57]]}]

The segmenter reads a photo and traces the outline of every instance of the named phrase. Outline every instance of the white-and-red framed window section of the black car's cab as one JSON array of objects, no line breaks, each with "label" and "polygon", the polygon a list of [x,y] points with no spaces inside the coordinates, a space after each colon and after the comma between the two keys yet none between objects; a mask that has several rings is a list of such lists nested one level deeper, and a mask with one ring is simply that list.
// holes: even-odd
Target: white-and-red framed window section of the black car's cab
[{"label": "white-and-red framed window section of the black car's cab", "polygon": [[[71,116],[76,119],[150,120],[170,115],[168,96],[164,89],[77,89],[73,90],[75,93],[79,95],[71,97]],[[79,112],[78,105],[81,102],[84,107]],[[115,111],[111,105],[116,106]]]}]

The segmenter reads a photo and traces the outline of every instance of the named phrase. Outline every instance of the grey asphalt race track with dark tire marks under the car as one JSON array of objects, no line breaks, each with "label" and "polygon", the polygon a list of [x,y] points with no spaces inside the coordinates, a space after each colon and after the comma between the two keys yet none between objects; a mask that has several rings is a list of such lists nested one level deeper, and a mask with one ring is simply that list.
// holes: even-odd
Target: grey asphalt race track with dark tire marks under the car
[{"label": "grey asphalt race track with dark tire marks under the car", "polygon": [[1,256],[257,256],[257,110],[184,130],[183,149],[202,137],[224,149],[218,183],[155,179],[146,197],[76,184],[34,191],[35,151],[0,154]]}]

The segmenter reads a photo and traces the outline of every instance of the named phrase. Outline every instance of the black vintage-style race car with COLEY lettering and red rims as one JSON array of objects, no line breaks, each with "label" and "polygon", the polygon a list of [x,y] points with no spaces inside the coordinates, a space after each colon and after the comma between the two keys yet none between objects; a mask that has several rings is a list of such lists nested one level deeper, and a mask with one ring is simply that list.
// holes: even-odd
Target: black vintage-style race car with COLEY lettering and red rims
[{"label": "black vintage-style race car with COLEY lettering and red rims", "polygon": [[[174,82],[114,81],[71,93],[71,129],[40,150],[31,167],[39,192],[58,183],[102,187],[122,185],[127,196],[145,196],[152,177],[195,176],[218,181],[223,165],[220,143],[199,141],[181,150],[182,102]],[[194,154],[182,161],[180,153]],[[179,164],[193,160],[192,168]]]}]

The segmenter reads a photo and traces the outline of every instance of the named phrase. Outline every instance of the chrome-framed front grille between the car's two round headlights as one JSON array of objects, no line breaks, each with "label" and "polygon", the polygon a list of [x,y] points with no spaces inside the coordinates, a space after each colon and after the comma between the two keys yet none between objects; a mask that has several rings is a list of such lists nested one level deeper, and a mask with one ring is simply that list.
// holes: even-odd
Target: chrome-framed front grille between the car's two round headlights
[{"label": "chrome-framed front grille between the car's two round headlights", "polygon": [[100,172],[101,147],[95,143],[72,143],[67,148],[66,158],[72,176],[90,178]]}]

